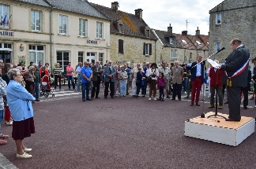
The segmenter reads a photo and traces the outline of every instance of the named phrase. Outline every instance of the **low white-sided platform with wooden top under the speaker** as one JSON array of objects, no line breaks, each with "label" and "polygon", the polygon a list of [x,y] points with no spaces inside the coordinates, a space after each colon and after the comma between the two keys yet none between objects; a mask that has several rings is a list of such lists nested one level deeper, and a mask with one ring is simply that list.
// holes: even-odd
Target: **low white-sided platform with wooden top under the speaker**
[{"label": "low white-sided platform with wooden top under the speaker", "polygon": [[[242,116],[239,122],[227,122],[218,116],[207,118],[214,114],[215,112],[208,112],[205,118],[198,116],[186,120],[184,134],[192,138],[236,146],[254,133],[255,119],[252,117]],[[220,112],[218,115],[228,118],[228,115]]]}]

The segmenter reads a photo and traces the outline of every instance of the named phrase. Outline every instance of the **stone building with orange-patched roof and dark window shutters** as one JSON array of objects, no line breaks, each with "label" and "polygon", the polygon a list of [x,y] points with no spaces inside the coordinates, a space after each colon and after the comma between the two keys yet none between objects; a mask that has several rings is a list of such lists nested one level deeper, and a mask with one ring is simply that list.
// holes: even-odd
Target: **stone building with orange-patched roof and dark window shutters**
[{"label": "stone building with orange-patched roof and dark window shutters", "polygon": [[119,2],[112,2],[111,8],[93,4],[111,19],[110,55],[111,61],[121,64],[156,61],[156,36],[142,19],[142,9],[135,14],[119,10]]}]

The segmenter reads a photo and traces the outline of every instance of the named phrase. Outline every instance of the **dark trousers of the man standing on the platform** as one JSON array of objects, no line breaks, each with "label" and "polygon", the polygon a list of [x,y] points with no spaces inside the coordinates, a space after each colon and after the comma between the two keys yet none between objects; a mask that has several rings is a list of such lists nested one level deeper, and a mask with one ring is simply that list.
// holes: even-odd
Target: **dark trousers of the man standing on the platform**
[{"label": "dark trousers of the man standing on the platform", "polygon": [[240,104],[241,104],[241,87],[239,86],[227,86],[228,94],[228,109],[230,119],[241,119]]}]

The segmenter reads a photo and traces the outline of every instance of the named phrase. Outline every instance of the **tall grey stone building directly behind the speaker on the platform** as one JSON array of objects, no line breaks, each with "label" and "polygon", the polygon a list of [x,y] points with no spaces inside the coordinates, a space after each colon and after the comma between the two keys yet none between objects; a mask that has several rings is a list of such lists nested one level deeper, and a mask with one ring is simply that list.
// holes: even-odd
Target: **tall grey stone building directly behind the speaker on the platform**
[{"label": "tall grey stone building directly behind the speaker on the platform", "polygon": [[230,41],[241,39],[250,50],[250,58],[256,57],[256,1],[225,0],[209,11],[209,53],[225,47],[215,58],[224,62],[232,52]]}]

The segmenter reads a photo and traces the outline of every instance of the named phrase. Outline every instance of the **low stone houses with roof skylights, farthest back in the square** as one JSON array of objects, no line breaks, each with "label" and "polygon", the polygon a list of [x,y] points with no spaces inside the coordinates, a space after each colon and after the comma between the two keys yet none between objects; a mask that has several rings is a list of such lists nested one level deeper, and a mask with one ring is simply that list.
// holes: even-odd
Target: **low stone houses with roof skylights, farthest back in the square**
[{"label": "low stone houses with roof skylights, farthest back in the square", "polygon": [[172,32],[171,24],[168,31],[153,30],[159,41],[156,44],[158,63],[161,61],[179,63],[191,63],[196,60],[198,53],[208,57],[209,35],[200,35],[196,30],[195,35],[188,35],[187,31],[182,34]]}]

